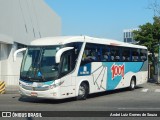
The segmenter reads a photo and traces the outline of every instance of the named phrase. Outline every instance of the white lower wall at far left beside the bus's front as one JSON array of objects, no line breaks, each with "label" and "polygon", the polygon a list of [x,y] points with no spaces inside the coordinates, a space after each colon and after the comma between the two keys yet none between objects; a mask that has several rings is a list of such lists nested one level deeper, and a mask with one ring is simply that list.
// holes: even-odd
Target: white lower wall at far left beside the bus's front
[{"label": "white lower wall at far left beside the bus's front", "polygon": [[5,81],[6,85],[18,85],[22,54],[13,62],[16,44],[1,43],[0,46],[0,80]]}]

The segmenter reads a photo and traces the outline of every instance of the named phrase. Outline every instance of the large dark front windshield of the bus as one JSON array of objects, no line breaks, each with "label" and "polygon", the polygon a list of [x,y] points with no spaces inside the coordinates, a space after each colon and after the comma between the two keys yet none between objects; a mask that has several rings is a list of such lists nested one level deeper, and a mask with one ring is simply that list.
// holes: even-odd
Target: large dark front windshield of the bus
[{"label": "large dark front windshield of the bus", "polygon": [[60,46],[28,47],[21,66],[21,79],[50,81],[57,79],[59,67],[55,63]]}]

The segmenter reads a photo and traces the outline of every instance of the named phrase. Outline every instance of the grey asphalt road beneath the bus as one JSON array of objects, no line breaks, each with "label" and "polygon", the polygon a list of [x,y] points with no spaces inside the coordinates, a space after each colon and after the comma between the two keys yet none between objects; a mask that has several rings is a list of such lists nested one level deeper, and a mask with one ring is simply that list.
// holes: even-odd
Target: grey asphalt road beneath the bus
[{"label": "grey asphalt road beneath the bus", "polygon": [[[160,85],[147,83],[134,91],[121,89],[92,94],[87,100],[82,101],[76,101],[74,98],[48,100],[20,97],[19,94],[3,94],[0,95],[0,111],[160,111]],[[92,118],[98,119],[98,117]],[[32,120],[32,118],[26,119]],[[70,118],[61,119],[70,120]],[[101,117],[101,119],[106,120],[108,118]],[[118,118],[114,117],[113,119]],[[143,119],[149,120],[151,118]]]}]

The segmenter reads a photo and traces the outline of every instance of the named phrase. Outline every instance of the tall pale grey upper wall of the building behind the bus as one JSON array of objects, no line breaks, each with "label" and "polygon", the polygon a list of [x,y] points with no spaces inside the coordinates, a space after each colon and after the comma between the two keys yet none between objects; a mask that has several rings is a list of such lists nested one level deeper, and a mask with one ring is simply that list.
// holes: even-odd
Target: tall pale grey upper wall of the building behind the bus
[{"label": "tall pale grey upper wall of the building behind the bus", "polygon": [[60,17],[43,0],[0,0],[0,18],[0,36],[18,43],[61,34]]}]

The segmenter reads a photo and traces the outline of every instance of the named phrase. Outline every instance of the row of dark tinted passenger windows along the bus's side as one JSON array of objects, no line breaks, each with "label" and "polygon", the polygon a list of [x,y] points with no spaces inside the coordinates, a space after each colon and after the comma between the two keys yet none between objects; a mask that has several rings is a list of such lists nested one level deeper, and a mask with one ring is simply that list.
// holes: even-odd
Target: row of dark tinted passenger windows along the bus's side
[{"label": "row of dark tinted passenger windows along the bus's side", "polygon": [[140,62],[145,60],[147,60],[147,50],[145,49],[90,43],[86,44],[82,57],[82,63],[131,61]]}]

